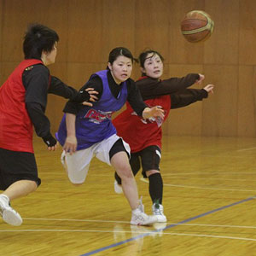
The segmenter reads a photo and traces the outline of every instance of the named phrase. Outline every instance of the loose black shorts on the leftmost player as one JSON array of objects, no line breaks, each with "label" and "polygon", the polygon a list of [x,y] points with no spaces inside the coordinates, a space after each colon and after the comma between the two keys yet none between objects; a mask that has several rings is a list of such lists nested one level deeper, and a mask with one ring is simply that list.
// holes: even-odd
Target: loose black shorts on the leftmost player
[{"label": "loose black shorts on the leftmost player", "polygon": [[41,183],[35,155],[0,148],[0,190],[25,179],[35,181],[38,186]]}]

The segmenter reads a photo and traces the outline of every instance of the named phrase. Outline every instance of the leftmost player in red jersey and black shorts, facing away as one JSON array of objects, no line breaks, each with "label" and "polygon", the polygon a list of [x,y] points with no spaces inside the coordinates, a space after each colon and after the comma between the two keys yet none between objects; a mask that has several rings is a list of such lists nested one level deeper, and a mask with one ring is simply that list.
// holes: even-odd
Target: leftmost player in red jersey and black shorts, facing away
[{"label": "leftmost player in red jersey and black shorts, facing away", "polygon": [[49,151],[57,146],[44,114],[47,94],[75,102],[95,100],[96,91],[91,88],[78,92],[50,76],[47,66],[55,62],[58,41],[49,27],[29,26],[23,42],[25,59],[0,87],[0,215],[11,225],[22,224],[22,218],[10,201],[32,193],[41,183],[32,146],[33,126]]}]

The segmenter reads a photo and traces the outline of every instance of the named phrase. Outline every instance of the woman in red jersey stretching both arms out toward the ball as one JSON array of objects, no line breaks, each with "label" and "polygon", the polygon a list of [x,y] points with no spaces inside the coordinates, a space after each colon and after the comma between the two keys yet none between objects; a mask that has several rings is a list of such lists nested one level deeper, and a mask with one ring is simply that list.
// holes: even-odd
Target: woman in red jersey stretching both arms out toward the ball
[{"label": "woman in red jersey stretching both arms out toward the ball", "polygon": [[[151,118],[143,120],[126,103],[126,110],[113,119],[119,137],[123,137],[131,147],[131,169],[134,175],[143,168],[143,177],[148,177],[149,194],[153,202],[153,214],[158,222],[166,222],[162,206],[163,181],[160,174],[161,157],[161,125],[166,121],[171,108],[182,108],[213,92],[213,85],[204,89],[187,89],[192,84],[201,84],[204,76],[189,73],[183,78],[161,80],[163,73],[163,57],[155,50],[147,50],[139,56],[143,76],[136,84],[148,106],[160,106],[165,111],[164,119]],[[114,189],[122,193],[121,179],[115,173]]]}]

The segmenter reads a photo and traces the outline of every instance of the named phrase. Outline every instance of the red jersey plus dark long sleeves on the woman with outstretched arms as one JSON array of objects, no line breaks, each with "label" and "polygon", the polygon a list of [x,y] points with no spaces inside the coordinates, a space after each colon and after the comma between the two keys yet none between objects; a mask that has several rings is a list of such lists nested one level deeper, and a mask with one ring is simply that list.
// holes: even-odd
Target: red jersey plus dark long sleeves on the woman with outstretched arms
[{"label": "red jersey plus dark long sleeves on the woman with outstretched arms", "polygon": [[[143,150],[151,145],[161,148],[161,125],[166,121],[170,108],[183,108],[189,104],[207,98],[206,90],[187,89],[199,79],[199,74],[189,73],[183,78],[152,79],[142,77],[136,84],[149,107],[161,106],[165,110],[165,119],[143,120],[133,112],[127,103],[126,110],[113,119],[117,134],[130,144],[131,153]],[[172,106],[171,106],[172,102]]]}]

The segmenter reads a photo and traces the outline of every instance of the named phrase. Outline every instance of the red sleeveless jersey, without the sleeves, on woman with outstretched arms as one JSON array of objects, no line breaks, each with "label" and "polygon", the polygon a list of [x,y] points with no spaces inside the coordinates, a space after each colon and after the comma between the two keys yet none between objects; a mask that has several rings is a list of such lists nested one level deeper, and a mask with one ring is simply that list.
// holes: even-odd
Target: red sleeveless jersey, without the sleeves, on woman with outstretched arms
[{"label": "red sleeveless jersey, without the sleeves, on woman with outstretched arms", "polygon": [[158,96],[144,101],[148,107],[160,106],[165,110],[165,119],[150,118],[144,120],[137,116],[130,104],[126,102],[126,109],[113,119],[113,125],[119,137],[122,137],[131,147],[131,153],[143,150],[151,145],[161,148],[162,128],[161,125],[167,119],[171,108],[170,95]]}]

